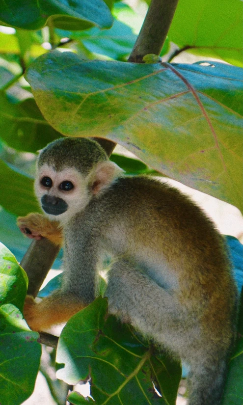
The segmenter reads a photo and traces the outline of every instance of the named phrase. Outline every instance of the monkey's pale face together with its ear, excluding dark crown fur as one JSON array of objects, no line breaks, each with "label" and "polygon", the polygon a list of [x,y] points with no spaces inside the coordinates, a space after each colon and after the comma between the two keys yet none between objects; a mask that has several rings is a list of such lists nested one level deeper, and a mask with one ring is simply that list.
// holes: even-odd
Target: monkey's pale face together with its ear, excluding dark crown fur
[{"label": "monkey's pale face together with its ear, excluding dark crown fur", "polygon": [[[40,169],[37,169],[34,184],[35,194],[45,215],[64,225],[72,216],[86,207],[93,195],[98,195],[122,172],[120,167],[110,161],[99,162],[86,177],[73,167],[57,172],[52,166],[44,163]],[[88,185],[93,185],[92,193],[90,193]],[[49,204],[51,209],[52,207],[57,208],[56,211],[54,210],[55,215],[48,213],[45,204],[43,205],[43,198],[51,200],[52,197],[61,199],[58,200],[60,204],[56,206]],[[58,211],[59,205],[63,206],[65,203],[66,209],[64,207],[63,210],[60,210],[61,212]]]}]

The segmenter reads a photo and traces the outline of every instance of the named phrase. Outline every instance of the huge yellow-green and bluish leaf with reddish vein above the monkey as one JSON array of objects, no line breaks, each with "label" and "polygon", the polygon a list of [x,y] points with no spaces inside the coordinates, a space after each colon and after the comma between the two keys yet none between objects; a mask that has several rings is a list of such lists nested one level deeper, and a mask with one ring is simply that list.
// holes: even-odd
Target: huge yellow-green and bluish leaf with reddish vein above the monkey
[{"label": "huge yellow-green and bluish leaf with reddish vein above the monkey", "polygon": [[243,208],[242,69],[82,61],[57,51],[27,70],[47,121],[118,142],[168,177]]}]

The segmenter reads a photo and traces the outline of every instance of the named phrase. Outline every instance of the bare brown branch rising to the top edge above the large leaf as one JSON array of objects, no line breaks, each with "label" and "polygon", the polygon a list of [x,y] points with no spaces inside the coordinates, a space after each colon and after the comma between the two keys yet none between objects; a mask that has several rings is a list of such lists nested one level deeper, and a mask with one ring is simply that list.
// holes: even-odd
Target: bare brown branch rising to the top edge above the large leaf
[{"label": "bare brown branch rising to the top edge above the large leaf", "polygon": [[159,55],[166,39],[178,0],[152,0],[129,56],[129,62],[142,62],[147,54]]}]

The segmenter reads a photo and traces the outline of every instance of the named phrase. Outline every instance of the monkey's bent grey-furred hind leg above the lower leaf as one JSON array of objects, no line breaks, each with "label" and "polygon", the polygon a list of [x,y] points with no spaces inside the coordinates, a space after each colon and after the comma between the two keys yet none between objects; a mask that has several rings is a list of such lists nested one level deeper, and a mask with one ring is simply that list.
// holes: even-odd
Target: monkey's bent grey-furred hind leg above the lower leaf
[{"label": "monkey's bent grey-furred hind leg above the lower leaf", "polygon": [[106,296],[110,313],[160,343],[182,328],[184,311],[177,299],[126,260],[109,270]]}]

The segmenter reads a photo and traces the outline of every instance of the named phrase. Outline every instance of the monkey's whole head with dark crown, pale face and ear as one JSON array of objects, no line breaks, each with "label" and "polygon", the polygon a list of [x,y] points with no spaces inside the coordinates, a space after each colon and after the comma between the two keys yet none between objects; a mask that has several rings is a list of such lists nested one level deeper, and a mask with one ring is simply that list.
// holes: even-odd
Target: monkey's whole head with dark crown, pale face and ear
[{"label": "monkey's whole head with dark crown, pale face and ear", "polygon": [[35,194],[44,213],[66,223],[97,198],[123,170],[110,162],[99,143],[61,138],[47,145],[37,161]]}]

